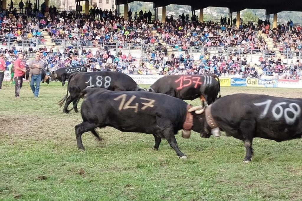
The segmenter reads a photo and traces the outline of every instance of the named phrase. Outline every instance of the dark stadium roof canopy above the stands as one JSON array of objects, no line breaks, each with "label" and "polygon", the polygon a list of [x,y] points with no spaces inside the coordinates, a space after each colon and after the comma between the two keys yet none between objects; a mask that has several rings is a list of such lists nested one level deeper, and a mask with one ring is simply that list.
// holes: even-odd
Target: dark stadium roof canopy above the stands
[{"label": "dark stadium roof canopy above the stands", "polygon": [[[241,11],[246,8],[265,9],[267,14],[281,11],[302,11],[301,0],[139,0],[140,2],[153,2],[155,7],[175,5],[189,5],[193,10],[209,6],[230,8],[231,12]],[[116,5],[134,2],[134,0],[116,0]]]}]

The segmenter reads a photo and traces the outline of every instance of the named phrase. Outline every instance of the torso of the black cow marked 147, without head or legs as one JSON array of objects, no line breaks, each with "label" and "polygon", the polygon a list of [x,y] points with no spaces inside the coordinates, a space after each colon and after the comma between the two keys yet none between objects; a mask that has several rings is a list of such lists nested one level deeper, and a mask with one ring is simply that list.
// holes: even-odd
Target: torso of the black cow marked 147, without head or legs
[{"label": "torso of the black cow marked 147, without head or legs", "polygon": [[[83,93],[85,91],[88,93],[84,96],[85,101],[81,107],[83,120],[100,119],[103,118],[101,115],[105,115],[110,122],[108,125],[123,125],[116,127],[119,130],[127,127],[127,121],[131,121],[129,125],[137,122],[148,127],[156,123],[152,121],[161,121],[159,119],[162,119],[159,123],[165,124],[165,121],[170,121],[177,129],[181,129],[187,113],[185,101],[165,94],[101,89],[85,89]],[[144,130],[132,130],[132,132],[146,133]]]}]

